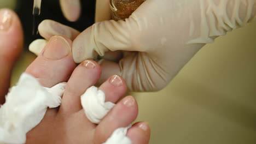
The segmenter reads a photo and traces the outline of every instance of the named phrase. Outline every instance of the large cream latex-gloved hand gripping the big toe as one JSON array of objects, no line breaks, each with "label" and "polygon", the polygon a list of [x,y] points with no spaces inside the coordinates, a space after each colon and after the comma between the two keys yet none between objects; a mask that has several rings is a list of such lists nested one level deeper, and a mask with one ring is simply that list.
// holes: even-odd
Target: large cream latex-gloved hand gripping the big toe
[{"label": "large cream latex-gloved hand gripping the big toe", "polygon": [[[131,91],[158,91],[203,45],[255,16],[256,0],[147,0],[126,21],[85,29],[73,41],[73,58],[80,63],[107,51],[125,51],[118,63],[101,61],[101,81],[119,74]],[[41,23],[40,34],[60,34],[47,30],[51,22]],[[71,28],[59,26],[65,29],[62,35],[71,35]]]}]

